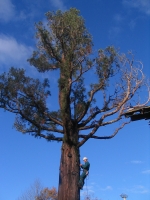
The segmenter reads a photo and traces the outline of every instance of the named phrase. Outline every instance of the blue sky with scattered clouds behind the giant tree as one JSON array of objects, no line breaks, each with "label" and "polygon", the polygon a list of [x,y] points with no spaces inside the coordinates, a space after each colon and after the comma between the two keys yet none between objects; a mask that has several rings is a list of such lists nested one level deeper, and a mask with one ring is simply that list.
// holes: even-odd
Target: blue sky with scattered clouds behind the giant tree
[{"label": "blue sky with scattered clouds behind the giant tree", "polygon": [[[0,0],[0,73],[15,66],[39,76],[26,62],[35,48],[34,23],[44,21],[47,11],[70,7],[81,11],[95,51],[108,45],[124,53],[132,50],[150,77],[149,0]],[[53,90],[55,78],[51,82]],[[61,144],[17,132],[10,113],[0,110],[0,119],[0,200],[17,200],[36,179],[57,187]],[[101,200],[119,200],[126,193],[128,199],[150,199],[148,121],[129,124],[111,140],[88,141],[81,148],[83,156],[89,158],[91,169],[81,196],[88,192]]]}]

